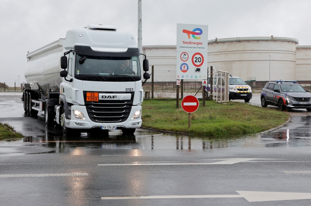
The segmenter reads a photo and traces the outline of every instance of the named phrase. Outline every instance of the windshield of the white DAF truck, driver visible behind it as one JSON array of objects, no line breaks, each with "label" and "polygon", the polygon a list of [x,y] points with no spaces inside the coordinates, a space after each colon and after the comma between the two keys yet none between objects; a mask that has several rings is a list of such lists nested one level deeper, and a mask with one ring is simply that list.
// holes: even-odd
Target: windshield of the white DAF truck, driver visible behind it
[{"label": "windshield of the white DAF truck, driver visible behind it", "polygon": [[[137,56],[116,57],[76,54],[75,78],[91,81],[118,81],[118,79],[126,81],[122,76],[128,78],[128,81],[141,79]],[[89,79],[84,79],[85,77],[89,77]]]}]

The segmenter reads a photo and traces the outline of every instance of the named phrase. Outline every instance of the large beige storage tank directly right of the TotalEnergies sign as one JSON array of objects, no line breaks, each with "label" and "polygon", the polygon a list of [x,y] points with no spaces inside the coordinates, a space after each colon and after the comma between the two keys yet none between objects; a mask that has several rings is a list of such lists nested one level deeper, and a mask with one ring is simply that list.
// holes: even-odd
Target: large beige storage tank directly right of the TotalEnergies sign
[{"label": "large beige storage tank directly right of the TotalEnergies sign", "polygon": [[256,81],[269,81],[270,67],[270,80],[297,80],[297,43],[298,39],[273,36],[210,40],[208,66],[224,66],[233,76]]}]

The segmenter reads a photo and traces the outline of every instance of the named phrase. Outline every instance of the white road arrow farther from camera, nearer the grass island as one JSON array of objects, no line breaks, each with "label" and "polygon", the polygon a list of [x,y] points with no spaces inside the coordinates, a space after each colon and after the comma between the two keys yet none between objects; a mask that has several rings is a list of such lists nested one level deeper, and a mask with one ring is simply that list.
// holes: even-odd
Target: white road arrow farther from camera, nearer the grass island
[{"label": "white road arrow farther from camera, nearer the grass island", "polygon": [[[98,166],[126,166],[126,165],[195,165],[195,164],[235,164],[260,158],[229,158],[229,159],[204,159],[204,160],[224,160],[213,163],[130,163],[130,164],[98,164]],[[203,159],[202,159],[203,160]]]}]

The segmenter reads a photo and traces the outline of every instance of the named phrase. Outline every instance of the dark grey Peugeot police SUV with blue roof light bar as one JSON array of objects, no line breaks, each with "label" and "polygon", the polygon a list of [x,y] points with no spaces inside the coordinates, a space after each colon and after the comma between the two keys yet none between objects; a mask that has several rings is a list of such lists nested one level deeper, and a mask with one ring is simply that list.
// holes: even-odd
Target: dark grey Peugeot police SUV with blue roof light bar
[{"label": "dark grey Peugeot police SUV with blue roof light bar", "polygon": [[268,82],[262,89],[261,106],[277,106],[279,110],[307,109],[311,111],[311,93],[300,86],[297,81]]}]

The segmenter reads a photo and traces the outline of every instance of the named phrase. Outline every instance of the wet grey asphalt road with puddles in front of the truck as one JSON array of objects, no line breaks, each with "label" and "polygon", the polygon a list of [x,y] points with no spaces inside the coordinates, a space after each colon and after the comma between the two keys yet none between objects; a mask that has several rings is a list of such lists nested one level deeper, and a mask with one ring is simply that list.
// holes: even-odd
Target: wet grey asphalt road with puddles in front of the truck
[{"label": "wet grey asphalt road with puddles in front of the truck", "polygon": [[[37,118],[25,115],[20,97],[0,93],[0,121],[27,136],[20,141],[0,141],[0,205],[311,204],[311,199],[259,198],[258,202],[249,202],[230,197],[101,199],[239,195],[236,191],[311,193],[310,173],[284,172],[311,171],[309,112],[294,110],[288,126],[246,137],[209,138],[138,129],[133,137],[124,137],[116,130],[109,132],[109,137],[81,134],[69,138],[58,128],[45,127],[43,114]],[[237,160],[230,158],[249,159],[218,163]],[[124,165],[132,163],[149,165]],[[79,176],[67,176],[73,173]],[[21,174],[47,177],[16,177]]]}]

